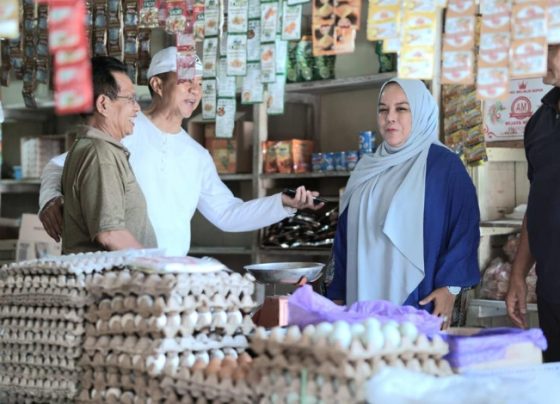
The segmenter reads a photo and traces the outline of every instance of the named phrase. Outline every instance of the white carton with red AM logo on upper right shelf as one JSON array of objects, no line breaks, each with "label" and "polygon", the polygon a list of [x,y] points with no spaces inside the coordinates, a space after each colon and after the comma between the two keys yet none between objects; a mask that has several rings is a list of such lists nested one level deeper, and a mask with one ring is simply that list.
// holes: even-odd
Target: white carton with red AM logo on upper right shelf
[{"label": "white carton with red AM logo on upper right shelf", "polygon": [[484,102],[484,135],[486,142],[523,140],[529,118],[541,106],[541,99],[552,89],[541,78],[511,80],[506,100]]}]

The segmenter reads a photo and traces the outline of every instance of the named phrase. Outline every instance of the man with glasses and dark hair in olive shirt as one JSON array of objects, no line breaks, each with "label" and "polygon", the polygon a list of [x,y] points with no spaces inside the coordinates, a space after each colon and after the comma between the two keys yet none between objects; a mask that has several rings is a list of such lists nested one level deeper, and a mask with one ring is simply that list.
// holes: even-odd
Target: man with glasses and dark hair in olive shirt
[{"label": "man with glasses and dark hair in olive shirt", "polygon": [[62,173],[62,251],[156,247],[146,200],[121,144],[140,111],[134,85],[115,58],[93,58],[92,73],[93,112],[89,125],[77,128]]}]

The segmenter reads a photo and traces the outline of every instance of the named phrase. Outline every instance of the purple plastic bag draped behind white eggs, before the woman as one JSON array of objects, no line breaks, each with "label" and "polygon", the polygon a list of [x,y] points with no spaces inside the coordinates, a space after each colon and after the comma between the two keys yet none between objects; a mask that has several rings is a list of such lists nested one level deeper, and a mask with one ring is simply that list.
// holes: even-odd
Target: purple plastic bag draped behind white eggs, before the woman
[{"label": "purple plastic bag draped behind white eggs, before the woman", "polygon": [[412,306],[397,306],[385,300],[357,302],[350,307],[339,306],[313,292],[309,285],[298,288],[288,298],[288,310],[289,325],[297,325],[300,328],[323,321],[334,323],[343,320],[357,323],[375,317],[381,323],[389,320],[398,323],[409,321],[416,325],[421,333],[430,336],[438,333],[442,324],[441,318],[432,316],[425,310],[418,310]]}]

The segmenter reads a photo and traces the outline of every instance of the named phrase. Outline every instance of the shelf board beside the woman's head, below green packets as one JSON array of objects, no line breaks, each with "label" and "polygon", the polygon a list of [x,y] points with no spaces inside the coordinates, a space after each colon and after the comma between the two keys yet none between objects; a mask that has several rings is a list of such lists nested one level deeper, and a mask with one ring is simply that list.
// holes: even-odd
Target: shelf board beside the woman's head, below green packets
[{"label": "shelf board beside the woman's head, below green packets", "polygon": [[396,73],[389,72],[343,79],[289,83],[286,84],[286,92],[320,94],[351,90],[365,90],[367,88],[381,87],[383,83],[394,77],[396,77]]}]

